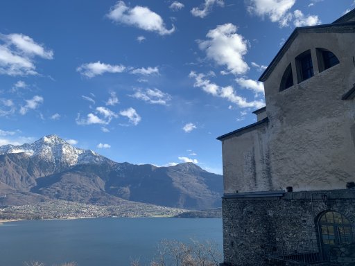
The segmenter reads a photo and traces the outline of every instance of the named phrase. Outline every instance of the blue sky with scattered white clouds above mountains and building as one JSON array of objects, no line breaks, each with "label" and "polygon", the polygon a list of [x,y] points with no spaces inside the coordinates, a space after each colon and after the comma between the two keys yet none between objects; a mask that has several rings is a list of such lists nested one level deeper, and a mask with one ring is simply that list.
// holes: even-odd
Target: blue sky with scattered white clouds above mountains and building
[{"label": "blue sky with scattered white clouds above mountains and building", "polygon": [[57,134],[114,161],[222,173],[295,26],[354,0],[0,2],[0,145]]}]

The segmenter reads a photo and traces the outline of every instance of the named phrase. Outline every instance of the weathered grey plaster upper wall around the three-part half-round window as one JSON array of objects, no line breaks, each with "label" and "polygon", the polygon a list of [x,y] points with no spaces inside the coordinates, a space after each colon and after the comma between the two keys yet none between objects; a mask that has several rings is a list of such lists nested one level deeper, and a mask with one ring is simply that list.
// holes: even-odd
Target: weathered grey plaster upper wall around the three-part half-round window
[{"label": "weathered grey plaster upper wall around the three-part half-round window", "polygon": [[[316,48],[340,64],[319,72]],[[297,82],[295,57],[311,50],[314,76]],[[225,193],[342,189],[355,181],[355,33],[298,33],[264,82],[268,125],[223,140]],[[279,91],[288,64],[295,85]]]}]

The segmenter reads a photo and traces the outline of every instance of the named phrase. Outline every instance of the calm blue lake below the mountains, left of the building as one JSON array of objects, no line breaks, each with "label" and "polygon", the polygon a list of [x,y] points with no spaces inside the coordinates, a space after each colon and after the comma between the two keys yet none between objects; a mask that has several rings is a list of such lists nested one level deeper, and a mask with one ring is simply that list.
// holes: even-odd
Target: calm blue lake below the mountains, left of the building
[{"label": "calm blue lake below the mountains, left of the building", "polygon": [[[78,266],[141,265],[157,254],[161,240],[212,240],[223,251],[221,219],[96,218],[31,220],[0,225],[0,265],[46,266],[75,261]],[[222,261],[221,261],[222,262]]]}]

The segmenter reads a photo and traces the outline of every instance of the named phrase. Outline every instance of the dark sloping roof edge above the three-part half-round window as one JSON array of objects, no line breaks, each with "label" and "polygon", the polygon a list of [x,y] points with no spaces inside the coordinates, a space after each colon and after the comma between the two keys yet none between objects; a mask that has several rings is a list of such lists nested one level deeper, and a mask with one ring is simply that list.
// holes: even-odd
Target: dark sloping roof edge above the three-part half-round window
[{"label": "dark sloping roof edge above the three-part half-round window", "polygon": [[[350,11],[352,12],[352,11]],[[340,30],[337,30],[338,28],[341,28]],[[329,32],[337,32],[340,31],[342,33],[344,32],[349,32],[349,33],[354,33],[355,32],[355,21],[349,21],[345,23],[331,23],[331,24],[324,24],[324,25],[316,25],[316,26],[306,26],[306,27],[297,27],[295,30],[293,30],[293,33],[291,33],[290,37],[286,40],[282,48],[279,50],[277,55],[272,59],[270,64],[268,65],[268,68],[263,71],[261,74],[259,81],[265,81],[268,79],[270,76],[270,73],[275,69],[277,63],[279,60],[281,60],[282,56],[286,53],[286,50],[291,46],[293,40],[297,37],[299,33],[329,33]]]}]

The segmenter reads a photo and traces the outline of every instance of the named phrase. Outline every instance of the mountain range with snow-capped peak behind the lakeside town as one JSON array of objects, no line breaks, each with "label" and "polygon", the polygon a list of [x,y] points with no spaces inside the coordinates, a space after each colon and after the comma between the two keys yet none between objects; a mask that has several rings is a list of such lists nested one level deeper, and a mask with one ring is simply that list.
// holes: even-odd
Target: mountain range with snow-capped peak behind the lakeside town
[{"label": "mountain range with snow-capped peak behind the lakeside town", "polygon": [[112,206],[142,202],[183,209],[220,206],[223,179],[193,163],[117,163],[55,135],[0,146],[0,206],[53,199]]}]

